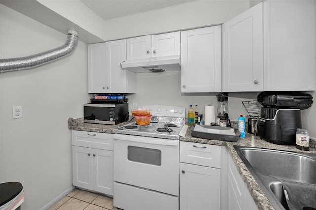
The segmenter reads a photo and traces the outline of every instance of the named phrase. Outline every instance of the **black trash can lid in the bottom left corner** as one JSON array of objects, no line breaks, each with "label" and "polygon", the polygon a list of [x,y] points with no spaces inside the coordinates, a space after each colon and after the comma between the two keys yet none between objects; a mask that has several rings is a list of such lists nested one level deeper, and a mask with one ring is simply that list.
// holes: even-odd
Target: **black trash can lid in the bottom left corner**
[{"label": "black trash can lid in the bottom left corner", "polygon": [[6,182],[0,184],[0,206],[15,198],[23,189],[19,182]]}]

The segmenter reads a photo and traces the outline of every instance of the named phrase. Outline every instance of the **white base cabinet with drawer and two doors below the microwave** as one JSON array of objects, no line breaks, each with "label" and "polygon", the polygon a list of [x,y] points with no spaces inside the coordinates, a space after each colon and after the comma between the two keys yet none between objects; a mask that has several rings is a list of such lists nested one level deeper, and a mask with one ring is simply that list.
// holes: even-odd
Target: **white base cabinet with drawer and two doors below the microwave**
[{"label": "white base cabinet with drawer and two doors below the microwave", "polygon": [[72,131],[73,185],[113,196],[113,134]]}]

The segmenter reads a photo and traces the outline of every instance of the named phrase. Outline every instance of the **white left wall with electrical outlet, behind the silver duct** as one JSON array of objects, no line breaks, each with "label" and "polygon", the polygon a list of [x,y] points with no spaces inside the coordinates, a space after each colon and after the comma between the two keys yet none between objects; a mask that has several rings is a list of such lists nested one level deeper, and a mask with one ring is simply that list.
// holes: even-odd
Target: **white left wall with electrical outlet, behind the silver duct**
[{"label": "white left wall with electrical outlet, behind the silver duct", "polygon": [[[0,58],[29,56],[62,46],[67,35],[0,5]],[[69,117],[83,116],[87,45],[72,55],[0,74],[0,182],[21,182],[24,210],[38,210],[72,187]],[[23,118],[12,119],[12,106]]]}]

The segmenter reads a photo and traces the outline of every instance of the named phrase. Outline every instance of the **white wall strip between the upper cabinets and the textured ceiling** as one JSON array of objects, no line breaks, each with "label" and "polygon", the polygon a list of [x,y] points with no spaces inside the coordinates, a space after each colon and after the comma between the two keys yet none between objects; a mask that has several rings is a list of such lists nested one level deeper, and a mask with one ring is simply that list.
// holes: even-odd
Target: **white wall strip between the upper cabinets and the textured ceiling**
[{"label": "white wall strip between the upper cabinets and the textured ceiling", "polygon": [[249,0],[198,0],[105,21],[105,40],[197,28],[225,21],[249,8]]}]

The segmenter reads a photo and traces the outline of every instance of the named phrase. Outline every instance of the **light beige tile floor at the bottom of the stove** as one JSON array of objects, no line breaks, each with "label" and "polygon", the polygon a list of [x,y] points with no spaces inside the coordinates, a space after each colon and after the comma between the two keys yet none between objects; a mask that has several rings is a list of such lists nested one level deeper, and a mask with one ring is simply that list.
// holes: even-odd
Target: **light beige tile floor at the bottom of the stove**
[{"label": "light beige tile floor at the bottom of the stove", "polygon": [[119,210],[113,199],[75,188],[48,210]]}]

